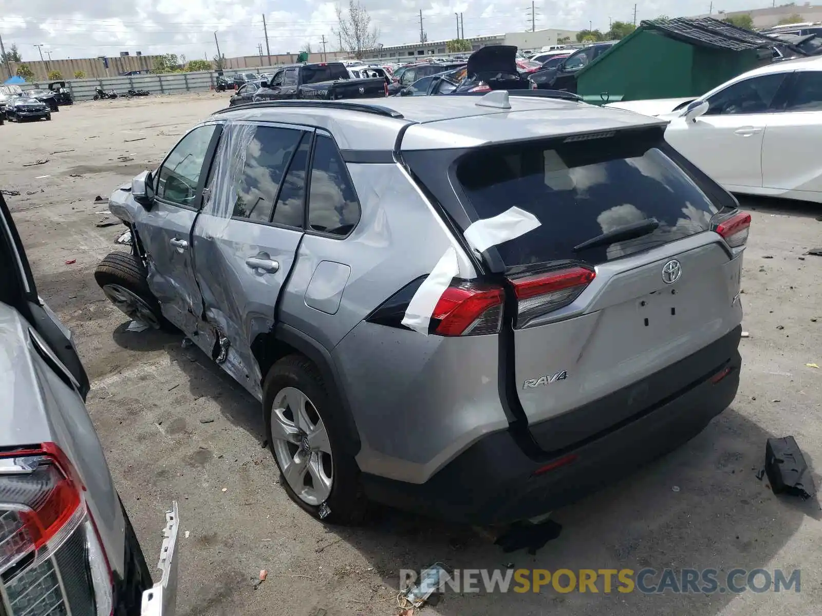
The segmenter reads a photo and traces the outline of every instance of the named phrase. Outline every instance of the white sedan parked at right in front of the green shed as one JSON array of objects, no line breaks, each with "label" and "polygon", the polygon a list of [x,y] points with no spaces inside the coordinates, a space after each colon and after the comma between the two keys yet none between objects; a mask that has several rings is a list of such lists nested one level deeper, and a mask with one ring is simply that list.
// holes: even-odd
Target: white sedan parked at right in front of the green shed
[{"label": "white sedan parked at right in front of the green shed", "polygon": [[728,191],[822,203],[822,57],[774,62],[698,99],[607,106],[670,120],[665,140]]}]

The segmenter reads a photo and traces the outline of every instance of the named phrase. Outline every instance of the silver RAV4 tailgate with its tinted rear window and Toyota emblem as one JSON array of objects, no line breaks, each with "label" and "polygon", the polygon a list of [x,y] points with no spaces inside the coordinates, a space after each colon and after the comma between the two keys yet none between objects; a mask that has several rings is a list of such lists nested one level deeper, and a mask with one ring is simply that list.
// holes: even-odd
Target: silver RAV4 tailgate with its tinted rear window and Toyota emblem
[{"label": "silver RAV4 tailgate with its tinted rear window and Toyota emblem", "polygon": [[[520,297],[506,309],[507,369],[543,450],[607,430],[727,361],[725,347],[687,359],[741,323],[741,249],[712,231],[737,204],[658,127],[470,149],[451,168],[475,219],[515,207],[539,221],[483,256]],[[657,226],[639,237],[580,247],[649,220]],[[539,297],[521,299],[523,281],[568,269],[594,274],[570,303],[541,312]]]}]

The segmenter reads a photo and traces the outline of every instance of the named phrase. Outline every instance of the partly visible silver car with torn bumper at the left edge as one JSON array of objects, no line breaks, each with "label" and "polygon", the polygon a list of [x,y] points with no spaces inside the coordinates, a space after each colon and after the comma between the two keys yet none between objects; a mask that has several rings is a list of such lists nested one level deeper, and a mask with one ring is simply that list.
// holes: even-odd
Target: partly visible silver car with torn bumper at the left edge
[{"label": "partly visible silver car with torn bumper at the left edge", "polygon": [[0,615],[170,616],[176,503],[151,575],[85,410],[72,335],[39,299],[0,194]]}]

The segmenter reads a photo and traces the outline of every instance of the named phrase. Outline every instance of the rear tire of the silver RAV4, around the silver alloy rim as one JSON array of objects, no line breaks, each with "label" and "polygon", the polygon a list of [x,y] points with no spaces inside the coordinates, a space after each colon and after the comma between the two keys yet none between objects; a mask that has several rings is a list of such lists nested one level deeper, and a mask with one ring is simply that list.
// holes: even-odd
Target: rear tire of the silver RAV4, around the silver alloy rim
[{"label": "rear tire of the silver RAV4, around the silver alloy rim", "polygon": [[[330,453],[321,453],[321,450],[318,449],[316,451],[312,450],[312,453],[309,454],[302,445],[297,444],[297,442],[305,442],[310,445],[311,443],[307,439],[298,437],[293,439],[293,442],[288,442],[277,438],[277,434],[281,434],[279,431],[272,432],[272,424],[275,421],[282,421],[282,418],[278,420],[278,416],[275,414],[275,401],[281,400],[286,392],[297,392],[305,396],[308,412],[314,416],[313,420],[310,421],[315,423],[315,427],[324,429],[327,434]],[[296,416],[296,411],[290,408],[290,404],[280,408],[285,408],[284,416]],[[354,461],[352,455],[347,453],[349,448],[346,447],[344,441],[346,432],[342,421],[339,419],[339,414],[335,413],[338,408],[339,401],[335,400],[333,393],[326,387],[320,370],[304,356],[289,355],[284,357],[271,366],[268,375],[266,375],[263,384],[263,414],[266,421],[269,448],[279,468],[280,485],[283,486],[294,503],[297,503],[300,508],[313,517],[330,524],[356,525],[363,522],[367,513],[367,499],[363,494],[357,462]],[[303,422],[295,421],[294,423],[302,424]],[[298,427],[301,426],[298,425]],[[309,460],[315,461],[317,467],[324,469],[326,476],[328,469],[332,469],[330,493],[321,503],[307,502],[307,500],[311,500],[311,488],[302,490],[301,496],[295,492],[293,485],[289,483],[284,475],[280,457],[290,456],[287,462],[293,462],[299,453],[313,456],[309,457]],[[311,462],[309,462],[309,465],[311,465]],[[306,471],[302,476],[303,481],[308,480],[312,485],[316,481],[316,475],[312,471]],[[300,483],[298,488],[302,489],[303,483]],[[307,496],[309,496],[308,499]],[[322,505],[326,505],[330,509],[330,513],[324,518],[320,516]]]}]

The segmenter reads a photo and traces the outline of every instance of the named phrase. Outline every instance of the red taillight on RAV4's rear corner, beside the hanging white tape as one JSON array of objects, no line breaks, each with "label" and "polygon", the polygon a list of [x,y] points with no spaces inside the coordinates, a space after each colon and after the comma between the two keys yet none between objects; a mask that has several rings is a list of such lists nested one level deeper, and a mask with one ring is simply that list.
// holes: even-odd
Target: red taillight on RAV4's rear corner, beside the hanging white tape
[{"label": "red taillight on RAV4's rear corner, beside the hanging white tape", "polygon": [[497,333],[502,321],[505,294],[500,287],[459,284],[448,287],[436,302],[433,333],[441,336],[476,336]]}]

